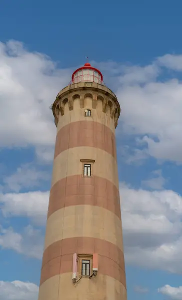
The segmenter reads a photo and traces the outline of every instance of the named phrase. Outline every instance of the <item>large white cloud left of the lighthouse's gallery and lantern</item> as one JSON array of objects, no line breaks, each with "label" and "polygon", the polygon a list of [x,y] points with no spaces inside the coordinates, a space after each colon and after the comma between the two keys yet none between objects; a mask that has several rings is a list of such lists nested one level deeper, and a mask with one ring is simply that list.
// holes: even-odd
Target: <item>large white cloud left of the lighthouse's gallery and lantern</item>
[{"label": "large white cloud left of the lighthouse's gallery and lantern", "polygon": [[0,146],[51,146],[56,128],[49,109],[69,82],[70,70],[28,52],[17,41],[0,43]]}]

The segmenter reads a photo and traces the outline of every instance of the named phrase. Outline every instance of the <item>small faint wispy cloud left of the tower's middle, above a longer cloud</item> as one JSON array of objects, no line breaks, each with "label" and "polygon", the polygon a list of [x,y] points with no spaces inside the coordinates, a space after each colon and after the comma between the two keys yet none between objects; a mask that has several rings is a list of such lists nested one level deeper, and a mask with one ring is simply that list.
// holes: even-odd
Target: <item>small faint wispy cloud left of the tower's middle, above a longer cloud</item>
[{"label": "small faint wispy cloud left of the tower's middle, above a longer cloud", "polygon": [[37,170],[30,163],[26,163],[18,167],[12,175],[3,178],[4,189],[19,192],[22,188],[37,187],[41,181],[49,178],[48,172]]}]

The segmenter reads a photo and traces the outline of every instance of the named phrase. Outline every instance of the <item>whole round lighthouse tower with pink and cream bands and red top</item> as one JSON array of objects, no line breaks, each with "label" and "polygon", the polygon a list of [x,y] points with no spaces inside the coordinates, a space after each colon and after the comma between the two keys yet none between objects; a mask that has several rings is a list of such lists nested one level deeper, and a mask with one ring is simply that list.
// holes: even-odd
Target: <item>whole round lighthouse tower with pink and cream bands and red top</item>
[{"label": "whole round lighthouse tower with pink and cream bands and red top", "polygon": [[57,95],[38,300],[126,300],[116,95],[85,63]]}]

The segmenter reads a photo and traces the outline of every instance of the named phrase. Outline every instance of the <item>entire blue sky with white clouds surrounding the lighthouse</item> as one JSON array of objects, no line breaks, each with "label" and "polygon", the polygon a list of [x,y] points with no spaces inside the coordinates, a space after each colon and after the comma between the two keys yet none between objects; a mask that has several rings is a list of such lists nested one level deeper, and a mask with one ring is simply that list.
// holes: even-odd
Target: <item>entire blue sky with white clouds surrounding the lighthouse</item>
[{"label": "entire blue sky with white clouds surrounding the lighthouse", "polygon": [[56,128],[85,56],[116,130],[128,300],[182,299],[182,2],[0,1],[0,299],[37,300]]}]

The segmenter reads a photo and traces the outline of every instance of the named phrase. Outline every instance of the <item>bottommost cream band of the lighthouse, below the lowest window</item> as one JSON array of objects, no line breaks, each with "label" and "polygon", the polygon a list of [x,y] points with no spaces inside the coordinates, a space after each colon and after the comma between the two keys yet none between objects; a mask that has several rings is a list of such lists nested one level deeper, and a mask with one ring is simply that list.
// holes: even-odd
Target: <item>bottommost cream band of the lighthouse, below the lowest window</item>
[{"label": "bottommost cream band of the lighthouse, below the lowest window", "polygon": [[127,300],[125,286],[118,280],[103,274],[88,280],[82,278],[77,286],[72,283],[72,273],[55,275],[39,288],[38,300],[105,299]]}]

